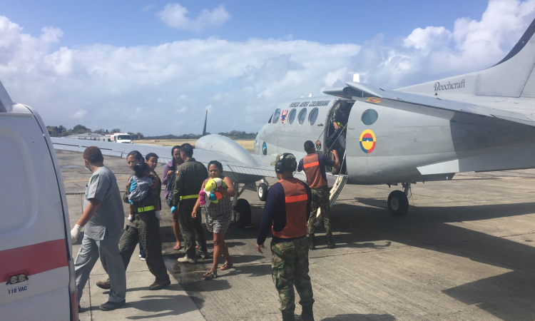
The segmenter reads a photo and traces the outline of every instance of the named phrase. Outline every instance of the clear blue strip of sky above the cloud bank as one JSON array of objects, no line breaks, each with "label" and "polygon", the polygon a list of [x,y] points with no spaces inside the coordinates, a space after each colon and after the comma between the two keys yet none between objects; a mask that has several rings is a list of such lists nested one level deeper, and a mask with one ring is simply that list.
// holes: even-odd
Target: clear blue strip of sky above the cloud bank
[{"label": "clear blue strip of sky above the cloud bank", "polygon": [[[407,4],[409,2],[409,4]],[[216,36],[230,41],[283,38],[322,44],[362,43],[374,34],[407,36],[422,26],[452,29],[460,16],[480,19],[488,1],[180,1],[197,16],[220,4],[232,18],[220,28],[200,32],[170,29],[156,18],[169,1],[2,1],[0,14],[29,34],[44,26],[65,32],[62,46],[113,44],[158,45]]]}]

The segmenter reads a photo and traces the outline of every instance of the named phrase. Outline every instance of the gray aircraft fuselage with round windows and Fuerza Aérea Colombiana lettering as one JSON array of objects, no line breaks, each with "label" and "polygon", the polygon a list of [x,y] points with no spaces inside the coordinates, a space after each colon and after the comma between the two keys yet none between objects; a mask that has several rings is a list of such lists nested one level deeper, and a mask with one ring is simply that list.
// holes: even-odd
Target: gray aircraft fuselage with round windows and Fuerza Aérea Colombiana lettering
[{"label": "gray aircraft fuselage with round windows and Fuerza A\u00e9rea Colombiana lettering", "polygon": [[[325,131],[332,130],[332,108],[339,101],[340,98],[323,96],[281,103],[270,123],[258,133],[255,153],[274,156],[289,152],[302,158],[305,141],[319,141],[317,152],[325,153]],[[429,108],[414,113],[402,110],[406,104],[402,101],[354,97],[354,102],[347,125],[349,183],[449,180],[457,172],[535,167],[533,127],[513,123],[504,126],[503,121],[478,123],[479,116],[459,118],[448,111]],[[311,107],[313,104],[320,106]],[[399,105],[391,108],[389,104]],[[310,115],[315,108],[317,119],[312,123]],[[377,112],[373,123],[362,118],[370,109]],[[301,119],[300,113],[305,114]]]}]

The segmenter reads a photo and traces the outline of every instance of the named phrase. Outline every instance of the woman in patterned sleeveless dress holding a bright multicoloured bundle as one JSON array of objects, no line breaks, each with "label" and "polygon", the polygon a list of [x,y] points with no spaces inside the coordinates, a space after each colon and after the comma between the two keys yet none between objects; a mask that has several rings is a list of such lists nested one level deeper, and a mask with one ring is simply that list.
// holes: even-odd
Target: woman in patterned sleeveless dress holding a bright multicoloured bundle
[{"label": "woman in patterned sleeveless dress holding a bright multicoloured bundle", "polygon": [[[235,190],[233,181],[222,175],[223,165],[221,165],[221,163],[218,161],[211,161],[208,163],[208,172],[210,173],[210,178],[207,178],[203,182],[203,188],[211,178],[220,178],[227,185],[226,188],[223,188],[223,186],[218,188],[218,192],[223,195],[223,198],[220,198],[218,203],[210,203],[210,205],[205,207],[205,223],[208,230],[213,233],[214,250],[212,268],[210,271],[206,272],[203,277],[205,280],[212,280],[215,277],[218,277],[218,265],[221,255],[225,257],[225,264],[223,264],[220,270],[224,271],[233,267],[233,261],[228,254],[227,243],[225,243],[225,233],[227,233],[230,220],[232,220],[233,203],[230,198],[235,195]],[[200,198],[198,198],[197,203],[195,203],[195,208],[193,208],[193,212],[191,213],[192,218],[197,217],[196,215],[199,209]]]}]

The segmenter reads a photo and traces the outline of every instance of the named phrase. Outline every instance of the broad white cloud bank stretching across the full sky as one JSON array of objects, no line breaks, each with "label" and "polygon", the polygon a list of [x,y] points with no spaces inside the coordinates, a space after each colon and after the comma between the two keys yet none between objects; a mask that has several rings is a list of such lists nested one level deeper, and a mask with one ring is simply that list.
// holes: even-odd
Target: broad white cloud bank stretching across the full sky
[{"label": "broad white cloud bank stretching across the full sky", "polygon": [[58,47],[59,29],[32,36],[0,16],[0,81],[47,125],[72,127],[80,117],[88,128],[200,133],[208,106],[208,131],[258,131],[278,103],[320,96],[352,73],[398,88],[488,68],[534,17],[535,0],[501,0],[490,1],[479,20],[458,19],[453,30],[422,26],[389,43],[378,34],[362,45],[208,38],[71,48]]}]

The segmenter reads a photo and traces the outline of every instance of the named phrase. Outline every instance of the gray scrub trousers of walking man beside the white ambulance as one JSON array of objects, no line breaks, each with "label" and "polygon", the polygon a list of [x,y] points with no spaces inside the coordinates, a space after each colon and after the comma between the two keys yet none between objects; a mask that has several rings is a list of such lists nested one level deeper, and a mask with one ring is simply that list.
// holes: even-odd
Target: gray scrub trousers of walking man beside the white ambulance
[{"label": "gray scrub trousers of walking man beside the white ambulance", "polygon": [[93,240],[83,235],[82,246],[78,250],[74,261],[74,274],[76,275],[76,292],[78,303],[82,297],[83,287],[89,278],[89,273],[98,258],[101,258],[102,266],[110,276],[111,289],[108,301],[121,302],[126,297],[126,272],[119,254],[119,239],[104,238]]}]

